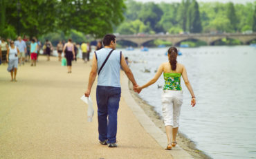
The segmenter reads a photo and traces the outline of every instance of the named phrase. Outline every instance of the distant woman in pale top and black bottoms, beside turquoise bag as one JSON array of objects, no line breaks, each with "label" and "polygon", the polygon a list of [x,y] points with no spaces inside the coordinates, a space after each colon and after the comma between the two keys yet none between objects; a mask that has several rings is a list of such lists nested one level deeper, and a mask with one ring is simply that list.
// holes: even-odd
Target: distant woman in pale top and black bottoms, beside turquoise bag
[{"label": "distant woman in pale top and black bottoms, beside turquoise bag", "polygon": [[68,42],[64,45],[63,52],[66,57],[68,73],[71,73],[72,59],[75,59],[75,48],[74,48],[74,45],[72,44],[71,39],[68,39]]}]

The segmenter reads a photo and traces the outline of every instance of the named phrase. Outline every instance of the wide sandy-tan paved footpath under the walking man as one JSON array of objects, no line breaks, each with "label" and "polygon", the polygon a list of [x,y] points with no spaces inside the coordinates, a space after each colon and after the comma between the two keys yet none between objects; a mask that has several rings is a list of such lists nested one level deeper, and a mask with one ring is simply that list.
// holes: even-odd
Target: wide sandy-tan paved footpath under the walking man
[{"label": "wide sandy-tan paved footpath under the walking man", "polygon": [[118,111],[118,148],[98,143],[95,115],[86,121],[80,100],[88,84],[90,64],[73,62],[73,71],[51,57],[37,66],[19,66],[10,82],[7,65],[0,66],[0,158],[172,158],[138,122],[124,97]]}]

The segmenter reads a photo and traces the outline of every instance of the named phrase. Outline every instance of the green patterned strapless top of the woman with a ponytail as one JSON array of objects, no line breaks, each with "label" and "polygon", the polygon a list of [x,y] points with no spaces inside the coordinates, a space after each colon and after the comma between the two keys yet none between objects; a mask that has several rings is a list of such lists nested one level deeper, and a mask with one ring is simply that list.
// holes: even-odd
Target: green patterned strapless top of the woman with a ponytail
[{"label": "green patterned strapless top of the woman with a ponytail", "polygon": [[163,90],[181,91],[181,73],[163,73],[165,86]]}]

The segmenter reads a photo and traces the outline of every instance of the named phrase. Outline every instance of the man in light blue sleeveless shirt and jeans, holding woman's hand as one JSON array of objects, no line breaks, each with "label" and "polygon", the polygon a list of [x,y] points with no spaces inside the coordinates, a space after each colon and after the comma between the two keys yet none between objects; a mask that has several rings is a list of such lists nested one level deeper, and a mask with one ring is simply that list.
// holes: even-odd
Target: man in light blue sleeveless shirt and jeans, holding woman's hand
[{"label": "man in light blue sleeveless shirt and jeans, holding woman's hand", "polygon": [[[98,105],[98,132],[100,144],[108,144],[109,147],[117,147],[117,113],[121,95],[120,66],[122,66],[125,74],[134,85],[134,90],[136,90],[138,85],[134,79],[134,75],[125,62],[125,57],[122,55],[122,52],[114,50],[116,49],[116,36],[105,35],[103,44],[104,48],[95,51],[93,55],[89,83],[84,95],[89,97],[91,87],[98,73],[96,98]],[[109,55],[110,52],[111,54]],[[107,59],[108,55],[109,59]],[[104,64],[104,67],[102,67],[105,59],[107,59],[107,62]]]}]

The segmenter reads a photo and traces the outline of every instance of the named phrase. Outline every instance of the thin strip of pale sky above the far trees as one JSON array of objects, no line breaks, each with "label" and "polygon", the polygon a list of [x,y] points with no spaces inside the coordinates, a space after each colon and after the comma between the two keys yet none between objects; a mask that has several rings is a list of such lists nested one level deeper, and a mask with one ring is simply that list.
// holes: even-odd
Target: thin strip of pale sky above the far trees
[{"label": "thin strip of pale sky above the far trees", "polygon": [[[172,3],[172,2],[181,2],[181,0],[135,0],[135,1],[140,1],[140,2],[149,2],[153,1],[155,3],[160,3],[161,1],[167,2],[167,3]],[[219,1],[223,3],[227,2],[233,2],[233,3],[247,3],[247,2],[254,2],[256,0],[196,0],[197,2],[214,2],[214,1]]]}]

